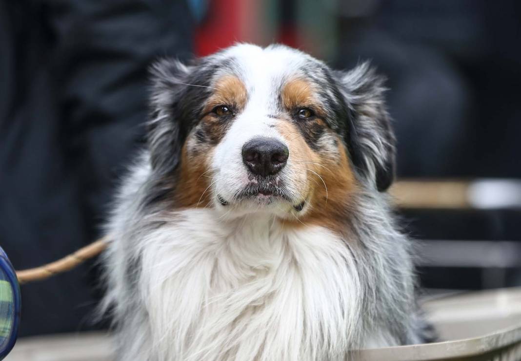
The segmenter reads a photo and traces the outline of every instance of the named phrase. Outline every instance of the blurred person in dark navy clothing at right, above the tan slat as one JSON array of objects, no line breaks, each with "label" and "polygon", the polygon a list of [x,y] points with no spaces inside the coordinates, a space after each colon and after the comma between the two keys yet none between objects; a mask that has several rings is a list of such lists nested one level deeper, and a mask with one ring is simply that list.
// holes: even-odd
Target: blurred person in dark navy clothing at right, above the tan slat
[{"label": "blurred person in dark navy clothing at right, above the tan slat", "polygon": [[521,177],[520,2],[339,4],[336,65],[389,78],[398,177]]}]

